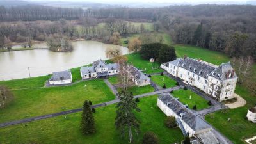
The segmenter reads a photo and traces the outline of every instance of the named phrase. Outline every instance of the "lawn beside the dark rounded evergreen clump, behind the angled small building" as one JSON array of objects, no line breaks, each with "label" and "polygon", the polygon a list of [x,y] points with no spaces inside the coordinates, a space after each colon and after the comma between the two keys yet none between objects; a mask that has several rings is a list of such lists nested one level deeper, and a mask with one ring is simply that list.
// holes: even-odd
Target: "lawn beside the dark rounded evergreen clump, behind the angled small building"
[{"label": "lawn beside the dark rounded evergreen clump, behind the angled small building", "polygon": [[150,63],[149,60],[143,60],[143,58],[140,57],[140,54],[138,53],[132,53],[127,55],[128,62],[134,65],[135,67],[140,68],[140,70],[145,70],[143,72],[147,74],[155,73],[155,72],[163,72],[161,68],[158,68],[156,70],[152,70],[152,67],[160,67],[160,64]]}]

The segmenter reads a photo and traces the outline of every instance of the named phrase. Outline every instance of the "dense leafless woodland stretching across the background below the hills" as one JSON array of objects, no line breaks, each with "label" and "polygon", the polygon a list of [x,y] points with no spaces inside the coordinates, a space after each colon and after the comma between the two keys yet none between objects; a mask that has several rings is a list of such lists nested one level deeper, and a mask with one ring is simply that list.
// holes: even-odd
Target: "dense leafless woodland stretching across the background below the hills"
[{"label": "dense leafless woodland stretching across the background below the hills", "polygon": [[[74,21],[81,24],[76,33]],[[51,6],[0,7],[0,47],[4,42],[24,42],[28,38],[45,40],[50,34],[108,42],[113,33],[120,35],[140,33],[143,28],[129,25],[125,20],[154,22],[154,30],[164,30],[173,42],[189,44],[226,52],[230,57],[256,58],[256,6],[250,5],[198,5],[166,6],[164,8],[54,8]],[[13,21],[52,20],[52,22]],[[54,20],[58,20],[57,22]],[[11,23],[8,21],[12,21]],[[97,24],[107,22],[106,28]],[[110,33],[110,35],[109,35]]]}]

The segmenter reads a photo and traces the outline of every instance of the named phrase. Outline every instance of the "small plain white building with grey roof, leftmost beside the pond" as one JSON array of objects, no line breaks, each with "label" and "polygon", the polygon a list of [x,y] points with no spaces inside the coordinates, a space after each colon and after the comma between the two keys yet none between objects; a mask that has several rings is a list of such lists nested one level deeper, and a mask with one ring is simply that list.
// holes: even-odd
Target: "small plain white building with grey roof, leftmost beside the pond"
[{"label": "small plain white building with grey roof, leftmost beside the pond", "polygon": [[70,84],[72,83],[72,74],[69,70],[62,72],[53,72],[52,77],[49,79],[49,84]]}]

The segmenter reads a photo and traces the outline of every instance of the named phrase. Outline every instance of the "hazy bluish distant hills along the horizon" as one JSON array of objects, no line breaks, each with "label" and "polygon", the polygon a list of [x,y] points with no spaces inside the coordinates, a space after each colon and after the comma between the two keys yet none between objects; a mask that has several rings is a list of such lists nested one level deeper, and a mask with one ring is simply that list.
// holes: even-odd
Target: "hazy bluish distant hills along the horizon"
[{"label": "hazy bluish distant hills along the horizon", "polygon": [[235,5],[244,5],[251,4],[256,5],[256,1],[215,1],[215,2],[198,2],[198,3],[129,3],[129,2],[119,2],[119,3],[97,3],[97,2],[72,2],[69,1],[22,1],[22,0],[0,0],[0,6],[24,6],[24,5],[44,5],[44,6],[55,6],[63,8],[114,8],[114,7],[131,7],[131,8],[151,8],[151,7],[163,7],[170,5],[198,5],[198,4],[235,4]]}]

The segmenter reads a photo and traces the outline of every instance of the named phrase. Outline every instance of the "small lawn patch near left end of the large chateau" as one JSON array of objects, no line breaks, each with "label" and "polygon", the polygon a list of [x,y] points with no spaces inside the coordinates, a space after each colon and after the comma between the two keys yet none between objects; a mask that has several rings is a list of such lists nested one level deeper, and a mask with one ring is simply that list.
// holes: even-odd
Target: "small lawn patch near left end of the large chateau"
[{"label": "small lawn patch near left end of the large chateau", "polygon": [[161,76],[161,75],[153,75],[150,78],[154,83],[157,85],[163,87],[165,84],[166,88],[172,88],[173,86],[176,86],[176,81],[173,81],[173,79],[170,79],[168,76]]}]

